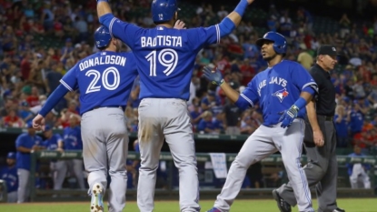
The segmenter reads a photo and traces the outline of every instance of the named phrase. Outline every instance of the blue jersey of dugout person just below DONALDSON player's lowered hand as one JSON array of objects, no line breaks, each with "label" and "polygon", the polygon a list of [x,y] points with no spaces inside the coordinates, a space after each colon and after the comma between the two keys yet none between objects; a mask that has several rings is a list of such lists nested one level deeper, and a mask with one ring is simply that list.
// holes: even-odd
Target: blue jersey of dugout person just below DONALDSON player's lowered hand
[{"label": "blue jersey of dugout person just below DONALDSON player's lowered hand", "polygon": [[[24,146],[25,148],[32,148],[35,145],[43,146],[42,137],[36,135],[30,136],[27,133],[23,133],[20,136],[17,136],[17,139],[15,140],[15,149],[17,149],[19,146]],[[32,160],[30,153],[17,151],[15,167],[30,170],[31,161]]]}]

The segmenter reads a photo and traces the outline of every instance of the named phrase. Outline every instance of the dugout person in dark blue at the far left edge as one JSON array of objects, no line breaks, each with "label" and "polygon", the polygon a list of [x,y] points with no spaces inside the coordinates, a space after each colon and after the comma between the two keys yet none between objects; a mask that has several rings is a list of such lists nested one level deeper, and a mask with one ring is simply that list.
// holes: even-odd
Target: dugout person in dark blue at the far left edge
[{"label": "dugout person in dark blue at the far left edge", "polygon": [[15,167],[15,152],[10,152],[6,156],[7,167],[0,172],[0,179],[3,179],[7,188],[7,202],[17,202],[18,177],[17,168]]}]

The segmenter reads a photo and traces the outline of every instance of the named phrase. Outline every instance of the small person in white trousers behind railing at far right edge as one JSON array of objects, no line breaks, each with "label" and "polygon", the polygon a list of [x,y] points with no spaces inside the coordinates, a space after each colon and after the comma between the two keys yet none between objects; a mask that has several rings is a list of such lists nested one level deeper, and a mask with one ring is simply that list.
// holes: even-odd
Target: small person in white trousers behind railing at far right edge
[{"label": "small person in white trousers behind railing at far right edge", "polygon": [[[348,155],[352,157],[362,157],[365,156],[362,154],[362,149],[359,146],[354,146],[353,153]],[[360,184],[362,184],[363,188],[371,188],[371,180],[368,176],[368,171],[371,168],[370,164],[347,164],[348,167],[348,175],[350,176],[350,183],[352,188],[361,188]]]}]

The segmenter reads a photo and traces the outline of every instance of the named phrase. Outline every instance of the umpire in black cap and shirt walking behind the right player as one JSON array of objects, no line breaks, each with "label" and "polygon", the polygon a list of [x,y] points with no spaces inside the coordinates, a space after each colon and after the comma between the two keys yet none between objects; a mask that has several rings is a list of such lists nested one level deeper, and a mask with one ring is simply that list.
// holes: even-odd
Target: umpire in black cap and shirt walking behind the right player
[{"label": "umpire in black cap and shirt walking behind the right player", "polygon": [[[316,186],[318,212],[345,212],[336,204],[338,164],[335,154],[336,132],[332,122],[336,103],[330,78],[330,71],[337,63],[336,56],[334,46],[322,45],[317,52],[316,64],[309,70],[318,85],[319,94],[306,106],[308,117],[304,146],[310,162],[303,170],[309,186]],[[297,205],[290,182],[273,190],[273,197],[281,212],[290,212],[291,206]]]}]

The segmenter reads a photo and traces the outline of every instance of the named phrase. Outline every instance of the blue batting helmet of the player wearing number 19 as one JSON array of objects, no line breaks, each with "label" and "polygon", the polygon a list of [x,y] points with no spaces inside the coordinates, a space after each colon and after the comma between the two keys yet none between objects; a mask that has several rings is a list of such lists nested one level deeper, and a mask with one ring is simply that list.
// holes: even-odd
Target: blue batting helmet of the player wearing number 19
[{"label": "blue batting helmet of the player wearing number 19", "polygon": [[152,19],[154,22],[170,21],[175,12],[179,11],[177,0],[154,0],[152,1]]}]

